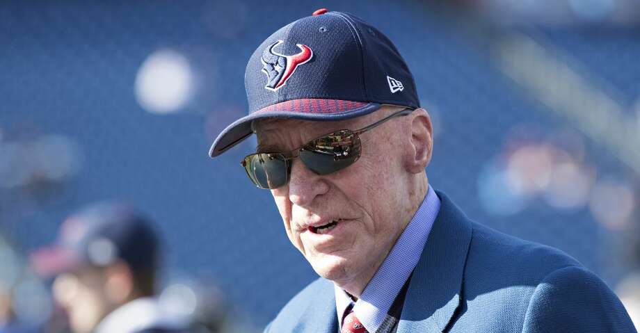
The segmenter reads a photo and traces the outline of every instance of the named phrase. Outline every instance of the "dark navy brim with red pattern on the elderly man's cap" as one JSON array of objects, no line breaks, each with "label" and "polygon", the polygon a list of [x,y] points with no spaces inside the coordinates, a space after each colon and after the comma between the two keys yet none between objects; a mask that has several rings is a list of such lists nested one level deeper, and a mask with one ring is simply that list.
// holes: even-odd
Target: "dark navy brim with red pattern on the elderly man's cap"
[{"label": "dark navy brim with red pattern on the elderly man's cap", "polygon": [[218,135],[218,138],[214,140],[214,144],[209,149],[209,156],[216,157],[248,138],[253,133],[251,122],[254,120],[276,117],[334,122],[367,115],[378,110],[381,106],[382,104],[378,103],[345,101],[342,99],[294,99],[282,101],[241,117],[227,126]]}]

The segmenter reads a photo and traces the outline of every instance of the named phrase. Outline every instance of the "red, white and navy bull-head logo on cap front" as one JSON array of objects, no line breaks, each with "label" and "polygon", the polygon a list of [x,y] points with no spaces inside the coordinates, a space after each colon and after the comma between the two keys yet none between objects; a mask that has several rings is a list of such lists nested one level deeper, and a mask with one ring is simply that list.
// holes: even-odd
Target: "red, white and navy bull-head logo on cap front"
[{"label": "red, white and navy bull-head logo on cap front", "polygon": [[278,40],[278,42],[271,44],[262,52],[262,57],[260,58],[262,72],[267,77],[267,83],[264,88],[271,91],[285,86],[285,83],[294,74],[296,68],[303,63],[307,63],[313,56],[313,51],[305,44],[296,44],[300,49],[300,53],[293,56],[285,56],[273,50],[282,43],[282,40]]}]

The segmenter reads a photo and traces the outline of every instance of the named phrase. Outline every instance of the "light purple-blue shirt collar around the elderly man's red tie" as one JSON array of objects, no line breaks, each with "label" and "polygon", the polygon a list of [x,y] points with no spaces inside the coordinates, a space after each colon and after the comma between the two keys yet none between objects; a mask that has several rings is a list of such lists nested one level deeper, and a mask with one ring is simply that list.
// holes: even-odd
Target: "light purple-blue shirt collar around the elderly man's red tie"
[{"label": "light purple-blue shirt collar around the elderly man's red tie", "polygon": [[[353,311],[367,332],[376,332],[393,301],[420,259],[426,238],[440,210],[440,199],[429,186],[411,222],[404,229],[380,268],[355,305]],[[338,323],[342,327],[344,311],[353,303],[349,294],[334,285]]]}]

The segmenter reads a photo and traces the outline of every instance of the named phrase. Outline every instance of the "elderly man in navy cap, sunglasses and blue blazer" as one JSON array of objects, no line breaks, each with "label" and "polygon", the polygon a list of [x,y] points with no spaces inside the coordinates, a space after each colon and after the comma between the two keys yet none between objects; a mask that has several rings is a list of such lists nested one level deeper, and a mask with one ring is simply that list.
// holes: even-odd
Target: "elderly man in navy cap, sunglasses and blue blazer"
[{"label": "elderly man in navy cap, sunglasses and blue blazer", "polygon": [[266,332],[634,332],[616,295],[566,254],[472,222],[426,177],[433,130],[380,31],[317,10],[246,68],[241,162],[321,276]]}]

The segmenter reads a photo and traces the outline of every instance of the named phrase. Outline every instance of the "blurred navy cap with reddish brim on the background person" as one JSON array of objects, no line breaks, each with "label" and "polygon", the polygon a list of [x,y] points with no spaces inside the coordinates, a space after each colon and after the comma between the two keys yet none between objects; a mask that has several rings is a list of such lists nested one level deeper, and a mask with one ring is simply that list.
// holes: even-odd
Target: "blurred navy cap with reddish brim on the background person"
[{"label": "blurred navy cap with reddish brim on the background person", "polygon": [[51,276],[80,267],[106,267],[118,259],[134,271],[154,270],[159,238],[150,220],[131,206],[103,202],[67,218],[56,243],[33,252],[31,263],[40,275]]}]

